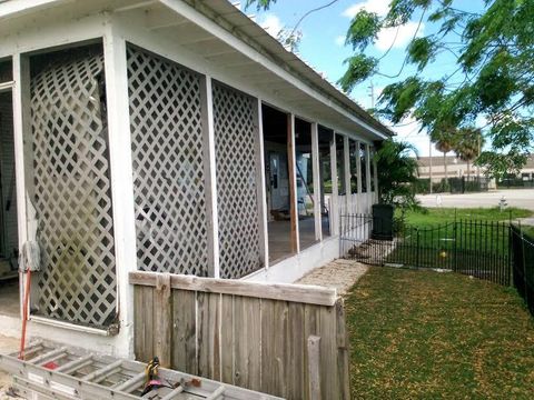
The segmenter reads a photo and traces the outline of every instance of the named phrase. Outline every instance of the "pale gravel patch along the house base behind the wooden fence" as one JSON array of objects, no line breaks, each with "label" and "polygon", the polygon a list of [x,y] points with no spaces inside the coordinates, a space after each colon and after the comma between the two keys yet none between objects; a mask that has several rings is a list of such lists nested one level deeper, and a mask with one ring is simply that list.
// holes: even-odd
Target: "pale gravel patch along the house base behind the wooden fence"
[{"label": "pale gravel patch along the house base behind the wooden fence", "polygon": [[338,294],[345,296],[367,270],[367,266],[357,261],[338,259],[314,269],[295,283],[335,288]]}]

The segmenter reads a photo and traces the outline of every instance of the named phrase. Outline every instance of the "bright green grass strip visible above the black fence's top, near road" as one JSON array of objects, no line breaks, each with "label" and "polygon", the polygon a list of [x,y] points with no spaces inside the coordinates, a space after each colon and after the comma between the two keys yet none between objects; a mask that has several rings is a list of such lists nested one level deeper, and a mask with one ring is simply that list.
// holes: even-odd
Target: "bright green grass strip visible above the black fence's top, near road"
[{"label": "bright green grass strip visible above the black fence's top, near road", "polygon": [[531,217],[533,214],[530,210],[518,208],[508,208],[505,211],[501,211],[498,207],[475,209],[428,208],[426,211],[407,211],[406,223],[425,227],[453,222],[455,213],[458,220],[478,221],[507,221],[511,217],[512,219],[516,219]]}]

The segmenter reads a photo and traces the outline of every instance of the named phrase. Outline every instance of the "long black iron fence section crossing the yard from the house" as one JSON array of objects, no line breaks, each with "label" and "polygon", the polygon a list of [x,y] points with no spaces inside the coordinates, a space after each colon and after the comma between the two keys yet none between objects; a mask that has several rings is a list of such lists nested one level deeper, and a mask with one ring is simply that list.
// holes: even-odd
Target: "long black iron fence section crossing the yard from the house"
[{"label": "long black iron fence section crossing the yard from the house", "polygon": [[437,268],[511,283],[508,222],[396,223],[393,240],[373,239],[377,223],[376,217],[366,214],[342,216],[342,253],[369,264]]}]

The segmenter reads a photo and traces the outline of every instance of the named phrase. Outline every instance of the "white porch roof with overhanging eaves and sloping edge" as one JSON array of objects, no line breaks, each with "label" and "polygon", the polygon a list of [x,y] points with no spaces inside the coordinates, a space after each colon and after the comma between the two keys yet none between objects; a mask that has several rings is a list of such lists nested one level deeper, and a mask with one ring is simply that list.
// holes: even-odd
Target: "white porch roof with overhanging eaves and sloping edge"
[{"label": "white porch roof with overhanging eaves and sloping edge", "polygon": [[305,109],[318,122],[369,141],[394,134],[227,0],[8,0],[0,2],[0,22],[53,8],[73,14],[142,13],[139,29],[171,38],[236,80]]}]

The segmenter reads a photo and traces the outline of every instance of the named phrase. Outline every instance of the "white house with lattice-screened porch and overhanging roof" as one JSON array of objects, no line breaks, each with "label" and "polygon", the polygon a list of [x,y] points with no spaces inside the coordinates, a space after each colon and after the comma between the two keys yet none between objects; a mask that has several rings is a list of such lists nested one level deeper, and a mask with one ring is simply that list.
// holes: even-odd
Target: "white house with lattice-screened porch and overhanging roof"
[{"label": "white house with lattice-screened porch and overhanging roof", "polygon": [[30,334],[126,357],[129,272],[295,281],[376,201],[392,134],[225,0],[2,1],[0,112]]}]

